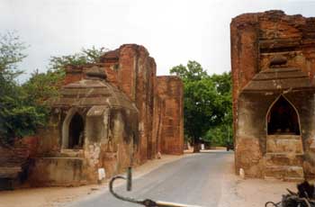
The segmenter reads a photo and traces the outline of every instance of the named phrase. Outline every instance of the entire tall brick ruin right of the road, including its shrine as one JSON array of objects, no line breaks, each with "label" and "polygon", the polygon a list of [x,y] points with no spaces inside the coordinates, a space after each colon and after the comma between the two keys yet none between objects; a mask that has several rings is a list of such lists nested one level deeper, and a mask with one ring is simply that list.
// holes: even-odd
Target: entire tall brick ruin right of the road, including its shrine
[{"label": "entire tall brick ruin right of the road, including its shrine", "polygon": [[236,172],[315,176],[315,18],[282,11],[230,23]]}]

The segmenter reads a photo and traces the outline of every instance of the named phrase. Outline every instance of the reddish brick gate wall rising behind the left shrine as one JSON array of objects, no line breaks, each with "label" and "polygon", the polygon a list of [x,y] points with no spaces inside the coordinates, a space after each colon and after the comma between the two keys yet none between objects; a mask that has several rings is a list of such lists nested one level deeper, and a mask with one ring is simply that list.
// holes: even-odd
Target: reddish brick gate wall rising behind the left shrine
[{"label": "reddish brick gate wall rising behind the left shrine", "polygon": [[[106,80],[116,85],[122,92],[128,95],[130,100],[134,102],[139,110],[139,160],[140,163],[148,158],[157,156],[157,152],[165,152],[169,154],[183,153],[182,142],[183,135],[183,85],[179,78],[163,76],[159,77],[160,85],[157,84],[157,66],[154,58],[149,57],[148,50],[143,46],[136,44],[121,45],[119,49],[106,52],[101,58],[101,63],[97,64],[102,67],[106,73]],[[88,67],[72,67],[67,69],[66,83],[72,83],[84,77],[85,70]],[[180,92],[175,92],[165,88],[165,85],[176,85],[180,88]],[[157,98],[157,90],[160,90],[159,98]],[[163,91],[163,92],[162,92]],[[161,97],[164,101],[161,101]],[[165,98],[167,97],[167,98]],[[173,101],[172,101],[173,100]],[[158,128],[158,117],[160,112],[166,112],[165,103],[177,104],[181,108],[181,112],[175,112],[175,125],[181,123],[181,132],[177,128],[174,130],[172,141],[161,140],[166,132],[165,127]],[[173,103],[174,102],[174,103]],[[167,109],[171,110],[171,109]],[[172,113],[172,112],[171,112]],[[177,124],[178,123],[178,124]],[[176,125],[177,124],[177,125]],[[167,129],[172,129],[169,126]],[[178,130],[178,131],[176,131]],[[162,132],[163,131],[163,132]],[[172,131],[168,130],[168,134]],[[176,134],[182,134],[176,136]],[[175,140],[177,139],[177,140]],[[184,144],[183,144],[184,145]],[[164,146],[164,149],[161,148]],[[166,147],[167,146],[167,147]],[[175,149],[171,149],[171,148]]]}]

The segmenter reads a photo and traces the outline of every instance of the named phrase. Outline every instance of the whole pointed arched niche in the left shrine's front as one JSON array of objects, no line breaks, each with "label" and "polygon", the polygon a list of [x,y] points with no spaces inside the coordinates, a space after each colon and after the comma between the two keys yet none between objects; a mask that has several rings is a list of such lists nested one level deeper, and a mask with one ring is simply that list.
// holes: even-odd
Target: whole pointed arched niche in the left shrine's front
[{"label": "whole pointed arched niche in the left shrine's front", "polygon": [[62,124],[62,148],[83,148],[85,120],[75,108],[67,112]]}]

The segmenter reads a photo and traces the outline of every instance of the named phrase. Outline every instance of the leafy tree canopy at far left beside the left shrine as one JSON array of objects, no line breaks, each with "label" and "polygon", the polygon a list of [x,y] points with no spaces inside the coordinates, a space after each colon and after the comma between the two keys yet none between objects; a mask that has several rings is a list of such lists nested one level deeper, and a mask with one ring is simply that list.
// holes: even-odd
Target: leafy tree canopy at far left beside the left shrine
[{"label": "leafy tree canopy at far left beside the left shrine", "polygon": [[98,62],[105,51],[93,47],[74,55],[51,57],[47,72],[35,70],[29,80],[19,85],[16,77],[23,70],[18,64],[26,58],[26,48],[16,33],[0,34],[0,141],[6,143],[34,134],[46,125],[50,112],[46,101],[58,95],[66,65]]}]

